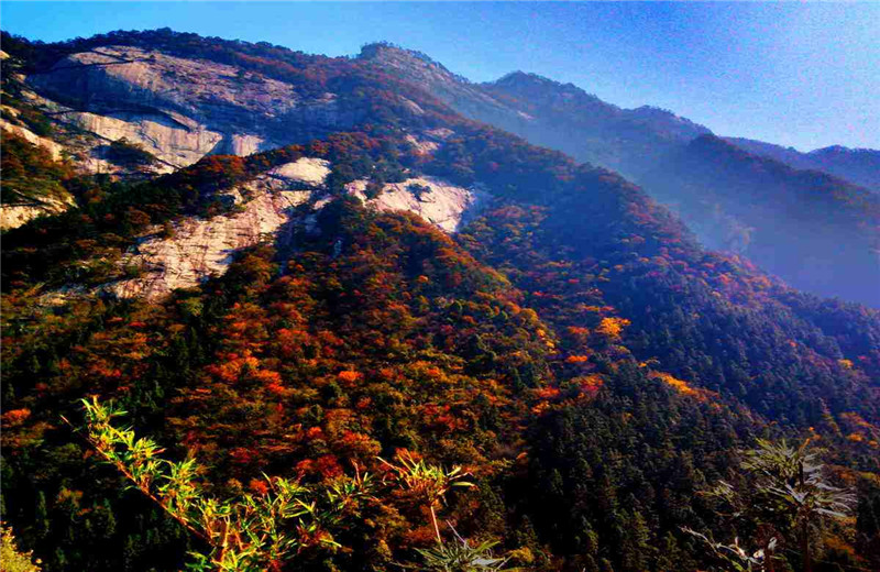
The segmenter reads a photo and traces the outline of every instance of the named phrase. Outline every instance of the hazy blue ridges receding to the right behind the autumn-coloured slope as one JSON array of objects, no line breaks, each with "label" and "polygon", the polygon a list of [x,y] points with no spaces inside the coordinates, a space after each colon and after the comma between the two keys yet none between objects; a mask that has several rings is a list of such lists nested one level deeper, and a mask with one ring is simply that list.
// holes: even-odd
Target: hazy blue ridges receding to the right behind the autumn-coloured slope
[{"label": "hazy blue ridges receding to the right behind the autumn-coloured slope", "polygon": [[[835,177],[794,173],[784,163],[790,157],[773,164],[706,145],[711,140],[701,138],[711,132],[686,119],[654,108],[619,109],[539,76],[515,73],[473,85],[394,46],[371,46],[361,57],[415,81],[468,117],[618,170],[675,209],[710,248],[754,257],[798,288],[880,307],[878,202],[861,188]],[[809,166],[823,168],[818,157],[829,156],[817,152]],[[758,163],[773,180],[755,176]],[[747,198],[754,194],[762,197],[760,208]],[[792,201],[801,205],[796,218],[789,210]],[[861,286],[854,287],[854,276],[861,276]]]}]

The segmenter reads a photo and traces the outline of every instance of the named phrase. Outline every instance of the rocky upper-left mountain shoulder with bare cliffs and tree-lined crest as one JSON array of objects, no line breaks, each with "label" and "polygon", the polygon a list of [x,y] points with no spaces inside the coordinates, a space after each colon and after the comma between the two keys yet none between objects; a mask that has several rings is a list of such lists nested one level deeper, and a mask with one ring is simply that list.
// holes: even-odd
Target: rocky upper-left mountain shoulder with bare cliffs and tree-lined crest
[{"label": "rocky upper-left mountain shoulder with bare cliffs and tree-lined crest", "polygon": [[[82,173],[142,178],[207,154],[246,155],[370,122],[421,117],[422,125],[440,109],[420,108],[411,86],[348,58],[270,45],[207,44],[170,30],[50,45],[2,40],[10,73],[0,127],[55,160],[72,157]],[[45,210],[14,198],[0,208],[6,228]]]}]

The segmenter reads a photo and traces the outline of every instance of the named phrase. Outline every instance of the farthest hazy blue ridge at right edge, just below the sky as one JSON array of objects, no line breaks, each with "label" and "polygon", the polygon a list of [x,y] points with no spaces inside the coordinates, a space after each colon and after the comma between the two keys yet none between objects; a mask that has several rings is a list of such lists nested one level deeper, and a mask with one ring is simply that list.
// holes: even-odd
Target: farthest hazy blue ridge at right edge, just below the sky
[{"label": "farthest hazy blue ridge at right edge, just below the sky", "polygon": [[824,170],[866,189],[880,193],[880,151],[872,148],[848,148],[840,145],[802,153],[743,138],[725,138],[740,148],[774,158],[798,169]]}]

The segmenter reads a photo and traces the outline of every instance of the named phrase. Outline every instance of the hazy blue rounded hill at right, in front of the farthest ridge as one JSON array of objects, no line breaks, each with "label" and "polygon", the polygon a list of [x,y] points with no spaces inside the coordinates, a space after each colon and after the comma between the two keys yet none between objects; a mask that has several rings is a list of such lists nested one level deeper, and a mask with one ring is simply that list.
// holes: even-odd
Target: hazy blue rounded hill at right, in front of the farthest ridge
[{"label": "hazy blue rounded hill at right, in front of the farthest ridge", "polygon": [[645,177],[658,200],[694,221],[691,227],[708,245],[738,252],[809,292],[877,307],[876,194],[821,172],[795,170],[711,135],[694,140]]}]

